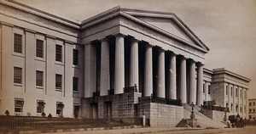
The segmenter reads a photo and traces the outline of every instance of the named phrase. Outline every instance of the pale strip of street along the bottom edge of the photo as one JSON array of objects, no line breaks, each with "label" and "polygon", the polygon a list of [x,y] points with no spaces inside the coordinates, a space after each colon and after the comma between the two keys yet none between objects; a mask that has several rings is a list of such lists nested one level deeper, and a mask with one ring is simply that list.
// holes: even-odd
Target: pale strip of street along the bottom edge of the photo
[{"label": "pale strip of street along the bottom edge of the photo", "polygon": [[256,126],[247,126],[246,128],[224,128],[224,129],[193,129],[193,128],[177,128],[177,127],[148,127],[135,129],[118,129],[118,130],[102,130],[102,131],[70,131],[70,132],[55,132],[55,134],[255,134]]}]

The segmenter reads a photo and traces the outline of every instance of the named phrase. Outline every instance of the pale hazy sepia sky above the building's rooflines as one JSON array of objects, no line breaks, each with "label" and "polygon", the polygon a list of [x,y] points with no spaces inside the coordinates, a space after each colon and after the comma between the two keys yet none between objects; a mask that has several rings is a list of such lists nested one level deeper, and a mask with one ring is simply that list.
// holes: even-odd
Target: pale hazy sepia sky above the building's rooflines
[{"label": "pale hazy sepia sky above the building's rooflines", "polygon": [[248,97],[256,98],[256,0],[15,1],[80,21],[116,6],[177,14],[210,48],[205,67],[251,79]]}]

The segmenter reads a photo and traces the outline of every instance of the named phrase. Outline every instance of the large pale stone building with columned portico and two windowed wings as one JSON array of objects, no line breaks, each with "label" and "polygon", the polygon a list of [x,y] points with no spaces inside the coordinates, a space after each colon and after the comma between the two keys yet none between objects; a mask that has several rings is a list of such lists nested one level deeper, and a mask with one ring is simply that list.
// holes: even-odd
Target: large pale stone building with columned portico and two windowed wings
[{"label": "large pale stone building with columned portico and two windowed wings", "polygon": [[184,117],[178,102],[214,100],[247,116],[250,80],[204,69],[209,48],[176,14],[116,7],[77,21],[1,1],[0,46],[0,114],[146,113],[175,125]]}]

